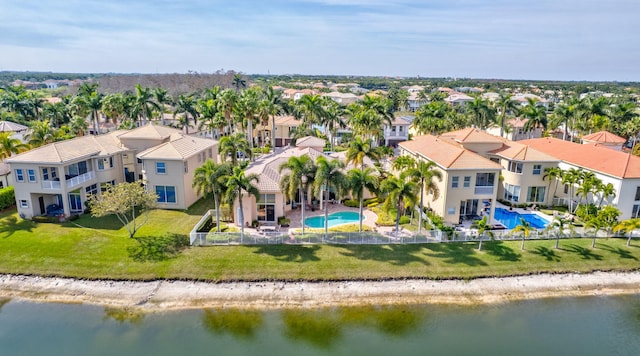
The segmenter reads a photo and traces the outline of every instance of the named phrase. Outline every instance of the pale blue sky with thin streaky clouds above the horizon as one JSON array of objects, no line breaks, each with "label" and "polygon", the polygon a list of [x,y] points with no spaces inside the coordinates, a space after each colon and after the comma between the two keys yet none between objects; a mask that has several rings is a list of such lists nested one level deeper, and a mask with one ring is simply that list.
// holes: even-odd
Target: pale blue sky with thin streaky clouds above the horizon
[{"label": "pale blue sky with thin streaky clouds above the horizon", "polygon": [[0,0],[0,71],[640,81],[638,0]]}]

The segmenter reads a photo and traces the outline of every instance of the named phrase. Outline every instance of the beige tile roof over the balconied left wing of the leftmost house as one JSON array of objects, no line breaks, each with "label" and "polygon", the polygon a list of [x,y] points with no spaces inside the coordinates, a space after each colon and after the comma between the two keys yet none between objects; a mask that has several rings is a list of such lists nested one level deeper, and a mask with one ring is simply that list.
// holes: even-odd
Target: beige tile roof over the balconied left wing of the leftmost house
[{"label": "beige tile roof over the balconied left wing of the leftmost house", "polygon": [[9,163],[64,163],[90,156],[108,156],[127,151],[115,133],[101,136],[82,136],[50,143],[8,158]]}]

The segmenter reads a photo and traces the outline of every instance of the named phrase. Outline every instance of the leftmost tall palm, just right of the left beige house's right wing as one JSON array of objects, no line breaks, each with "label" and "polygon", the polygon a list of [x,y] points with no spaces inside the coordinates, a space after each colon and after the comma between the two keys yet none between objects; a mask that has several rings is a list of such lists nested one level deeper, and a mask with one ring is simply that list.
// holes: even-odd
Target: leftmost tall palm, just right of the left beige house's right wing
[{"label": "leftmost tall palm, just right of the left beige house's right wing", "polygon": [[225,193],[226,179],[231,173],[231,166],[227,163],[216,164],[207,160],[196,168],[193,175],[192,186],[198,194],[213,195],[213,204],[216,209],[216,230],[220,232],[220,197]]}]

